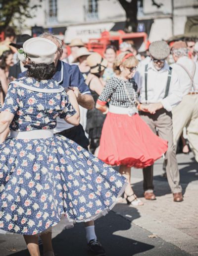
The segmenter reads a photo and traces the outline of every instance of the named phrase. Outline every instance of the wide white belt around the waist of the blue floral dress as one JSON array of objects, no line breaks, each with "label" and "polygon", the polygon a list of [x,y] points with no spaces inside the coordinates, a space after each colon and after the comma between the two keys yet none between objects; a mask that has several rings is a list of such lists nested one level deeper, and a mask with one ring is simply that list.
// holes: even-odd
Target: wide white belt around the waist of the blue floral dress
[{"label": "wide white belt around the waist of the blue floral dress", "polygon": [[28,130],[28,131],[10,131],[10,136],[12,138],[18,139],[40,139],[40,138],[50,138],[53,137],[53,129],[48,130]]}]

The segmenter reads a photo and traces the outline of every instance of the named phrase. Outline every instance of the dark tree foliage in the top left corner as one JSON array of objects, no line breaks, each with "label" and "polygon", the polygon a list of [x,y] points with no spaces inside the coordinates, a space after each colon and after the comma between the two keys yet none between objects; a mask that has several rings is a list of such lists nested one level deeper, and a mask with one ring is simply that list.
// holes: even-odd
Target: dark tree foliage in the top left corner
[{"label": "dark tree foliage in the top left corner", "polygon": [[[32,18],[33,10],[40,6],[42,0],[0,0],[0,32],[3,31],[14,17]],[[33,3],[33,4],[32,4]]]}]

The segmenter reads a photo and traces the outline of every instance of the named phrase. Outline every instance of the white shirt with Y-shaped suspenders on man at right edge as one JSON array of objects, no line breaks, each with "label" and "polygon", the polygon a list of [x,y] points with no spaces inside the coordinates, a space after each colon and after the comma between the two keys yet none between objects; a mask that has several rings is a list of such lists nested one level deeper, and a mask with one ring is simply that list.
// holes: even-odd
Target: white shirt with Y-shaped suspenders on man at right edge
[{"label": "white shirt with Y-shaped suspenders on man at right edge", "polygon": [[189,73],[192,75],[194,61],[189,59],[187,56],[183,56],[180,57],[176,63],[171,64],[173,70],[178,74],[182,96],[187,95],[191,91],[198,92],[198,63],[196,63],[195,75],[193,79],[195,88],[191,88],[191,79],[188,73],[184,70],[183,67],[179,66],[177,63],[184,65]]}]

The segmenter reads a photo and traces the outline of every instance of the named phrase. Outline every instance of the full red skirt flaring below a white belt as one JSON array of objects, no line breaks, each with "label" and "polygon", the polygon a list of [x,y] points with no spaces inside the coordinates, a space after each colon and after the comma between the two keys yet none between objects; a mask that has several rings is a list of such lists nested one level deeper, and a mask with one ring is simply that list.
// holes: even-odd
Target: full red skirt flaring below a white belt
[{"label": "full red skirt flaring below a white belt", "polygon": [[167,151],[168,143],[153,133],[138,114],[108,113],[102,128],[99,159],[109,165],[144,168]]}]

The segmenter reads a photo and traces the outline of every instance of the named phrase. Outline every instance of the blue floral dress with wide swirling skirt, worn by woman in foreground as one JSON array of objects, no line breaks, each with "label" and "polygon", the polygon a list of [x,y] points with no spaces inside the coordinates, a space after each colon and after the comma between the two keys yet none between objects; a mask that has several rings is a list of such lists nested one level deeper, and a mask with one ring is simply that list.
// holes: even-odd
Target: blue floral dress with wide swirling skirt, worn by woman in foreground
[{"label": "blue floral dress with wide swirling skirt, worn by woman in foreground", "polygon": [[[18,84],[17,84],[18,83]],[[30,86],[27,88],[21,87]],[[54,80],[23,77],[9,85],[1,111],[14,115],[10,129],[53,129],[56,118],[76,111]],[[124,190],[125,178],[74,141],[8,137],[0,144],[0,229],[34,235],[68,222],[105,215]]]}]

